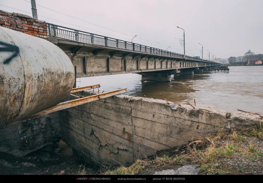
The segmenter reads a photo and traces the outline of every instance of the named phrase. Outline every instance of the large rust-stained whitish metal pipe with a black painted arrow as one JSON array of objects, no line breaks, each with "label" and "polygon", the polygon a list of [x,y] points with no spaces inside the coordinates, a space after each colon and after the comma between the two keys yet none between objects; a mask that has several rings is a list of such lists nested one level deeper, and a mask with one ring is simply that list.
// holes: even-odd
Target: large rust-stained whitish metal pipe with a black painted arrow
[{"label": "large rust-stained whitish metal pipe with a black painted arrow", "polygon": [[74,67],[59,47],[0,27],[0,126],[57,105],[74,80]]}]

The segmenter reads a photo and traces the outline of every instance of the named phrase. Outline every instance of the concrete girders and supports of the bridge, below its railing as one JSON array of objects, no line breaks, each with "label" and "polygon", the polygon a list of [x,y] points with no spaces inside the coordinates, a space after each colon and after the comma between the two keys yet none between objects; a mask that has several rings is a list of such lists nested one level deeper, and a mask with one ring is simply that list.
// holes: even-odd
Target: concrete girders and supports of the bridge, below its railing
[{"label": "concrete girders and supports of the bridge, below its railing", "polygon": [[[60,47],[76,66],[76,77],[138,73],[142,80],[167,78],[178,70],[215,66],[217,63],[195,61],[169,55],[155,55],[143,52],[131,52],[116,48],[101,47],[79,42],[58,40],[49,37],[49,41]],[[147,74],[146,74],[147,73]],[[152,74],[152,76],[151,76]],[[163,79],[157,79],[164,81]]]}]

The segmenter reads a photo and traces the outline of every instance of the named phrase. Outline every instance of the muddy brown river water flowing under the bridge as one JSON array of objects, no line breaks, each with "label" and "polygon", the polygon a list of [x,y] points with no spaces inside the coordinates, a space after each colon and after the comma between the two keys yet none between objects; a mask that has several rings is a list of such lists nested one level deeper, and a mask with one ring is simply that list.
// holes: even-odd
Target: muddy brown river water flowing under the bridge
[{"label": "muddy brown river water flowing under the bridge", "polygon": [[100,84],[101,91],[127,87],[127,94],[193,103],[198,106],[263,113],[263,66],[232,66],[227,72],[177,75],[172,82],[141,82],[139,74],[77,78],[77,87]]}]

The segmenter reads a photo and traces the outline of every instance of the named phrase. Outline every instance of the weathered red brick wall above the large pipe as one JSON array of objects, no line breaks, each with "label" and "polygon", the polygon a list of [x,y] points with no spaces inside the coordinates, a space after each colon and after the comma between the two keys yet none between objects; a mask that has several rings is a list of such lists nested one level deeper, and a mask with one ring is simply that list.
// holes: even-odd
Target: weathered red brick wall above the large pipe
[{"label": "weathered red brick wall above the large pipe", "polygon": [[20,13],[9,13],[2,10],[0,10],[0,26],[41,38],[47,38],[48,34],[45,22]]}]

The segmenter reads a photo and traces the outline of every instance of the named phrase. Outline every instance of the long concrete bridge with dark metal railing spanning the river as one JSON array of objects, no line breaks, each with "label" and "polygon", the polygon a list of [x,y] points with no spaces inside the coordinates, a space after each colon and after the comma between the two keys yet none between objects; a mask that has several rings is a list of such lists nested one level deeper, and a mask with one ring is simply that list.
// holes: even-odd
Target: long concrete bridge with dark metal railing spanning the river
[{"label": "long concrete bridge with dark metal railing spanning the river", "polygon": [[170,82],[172,74],[191,75],[220,65],[154,47],[47,23],[48,40],[75,66],[77,78],[138,73],[142,81]]}]

